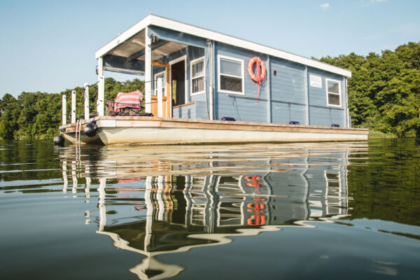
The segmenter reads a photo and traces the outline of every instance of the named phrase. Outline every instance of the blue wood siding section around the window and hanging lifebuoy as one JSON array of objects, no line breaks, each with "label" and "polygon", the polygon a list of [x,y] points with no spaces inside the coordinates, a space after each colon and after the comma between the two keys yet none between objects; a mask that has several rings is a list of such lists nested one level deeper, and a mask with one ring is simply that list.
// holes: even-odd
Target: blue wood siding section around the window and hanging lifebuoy
[{"label": "blue wood siding section around the window and hanging lifebuoy", "polygon": [[[215,52],[215,118],[220,120],[223,117],[231,117],[236,120],[267,123],[267,94],[265,87],[269,83],[269,77],[267,77],[264,85],[260,87],[260,102],[256,102],[258,86],[248,75],[248,62],[249,59],[257,56],[267,64],[268,56],[223,43],[215,44]],[[243,60],[244,95],[218,92],[218,55]]]}]

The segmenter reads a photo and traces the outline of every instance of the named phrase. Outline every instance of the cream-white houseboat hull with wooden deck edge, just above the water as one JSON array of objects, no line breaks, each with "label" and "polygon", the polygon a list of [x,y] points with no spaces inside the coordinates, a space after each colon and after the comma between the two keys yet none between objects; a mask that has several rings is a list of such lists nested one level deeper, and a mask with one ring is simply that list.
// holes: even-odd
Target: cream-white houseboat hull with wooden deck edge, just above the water
[{"label": "cream-white houseboat hull with wooden deck edge, just above the water", "polygon": [[[105,145],[237,144],[270,142],[366,141],[368,130],[359,128],[282,125],[157,117],[97,117],[97,137]],[[74,143],[74,127],[60,127]],[[82,132],[81,141],[91,144]]]}]

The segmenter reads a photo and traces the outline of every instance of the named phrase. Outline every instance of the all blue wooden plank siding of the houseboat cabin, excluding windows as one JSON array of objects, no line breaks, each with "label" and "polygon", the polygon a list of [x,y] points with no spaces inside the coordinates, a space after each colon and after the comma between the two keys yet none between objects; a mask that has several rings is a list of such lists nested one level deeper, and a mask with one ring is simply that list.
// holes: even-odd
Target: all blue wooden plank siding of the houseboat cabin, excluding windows
[{"label": "all blue wooden plank siding of the houseboat cabin, excluding windows", "polygon": [[[186,55],[186,102],[195,104],[174,109],[177,118],[209,118],[209,85],[214,76],[214,118],[231,117],[241,121],[262,123],[289,123],[297,121],[306,125],[307,111],[309,111],[309,125],[338,124],[346,126],[346,87],[345,78],[334,73],[306,67],[302,64],[290,62],[286,59],[269,57],[268,55],[237,48],[232,45],[214,42],[214,73],[210,73],[208,45],[205,38],[180,34],[179,32],[151,27],[151,31],[158,38],[183,43],[188,47],[160,59],[168,63]],[[218,55],[241,59],[244,63],[244,95],[226,94],[218,92]],[[252,57],[260,57],[266,64],[267,80],[260,87],[260,102],[256,102],[258,86],[248,76],[248,62]],[[190,62],[204,57],[205,61],[205,93],[191,96],[190,92]],[[307,76],[305,77],[307,69]],[[276,71],[276,76],[274,76]],[[158,72],[154,69],[153,73]],[[309,76],[321,76],[321,88],[311,87]],[[307,84],[305,83],[307,79]],[[341,108],[328,106],[325,79],[339,80],[341,83]],[[308,92],[308,98],[306,97]],[[309,109],[306,100],[309,100]],[[269,101],[269,102],[267,102]],[[271,102],[271,103],[270,103]]]}]

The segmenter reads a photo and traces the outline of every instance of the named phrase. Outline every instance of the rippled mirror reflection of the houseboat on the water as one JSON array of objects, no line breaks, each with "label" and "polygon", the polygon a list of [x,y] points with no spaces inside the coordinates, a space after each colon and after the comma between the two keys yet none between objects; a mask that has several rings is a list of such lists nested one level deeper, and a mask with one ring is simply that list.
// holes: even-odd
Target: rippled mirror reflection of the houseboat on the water
[{"label": "rippled mirror reflection of the houseboat on the water", "polygon": [[67,176],[72,193],[84,177],[89,198],[98,179],[99,214],[87,213],[87,223],[95,220],[117,248],[146,257],[130,272],[164,279],[186,267],[158,255],[347,216],[349,153],[365,153],[364,145],[115,146],[99,148],[95,160],[88,150],[78,160],[67,148],[60,151],[63,192]]}]

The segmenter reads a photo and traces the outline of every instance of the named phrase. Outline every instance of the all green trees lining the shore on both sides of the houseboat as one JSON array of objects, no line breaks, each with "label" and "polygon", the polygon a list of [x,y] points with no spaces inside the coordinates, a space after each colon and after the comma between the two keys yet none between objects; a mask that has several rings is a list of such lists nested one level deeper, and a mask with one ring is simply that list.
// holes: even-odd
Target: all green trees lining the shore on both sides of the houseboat
[{"label": "all green trees lining the shore on both sides of the houseboat", "polygon": [[[317,60],[352,72],[348,80],[352,127],[369,128],[372,138],[420,137],[420,42],[384,50],[381,55],[351,52]],[[61,96],[66,94],[69,109],[72,90],[76,90],[76,115],[81,116],[83,87],[60,93],[22,92],[18,98],[4,94],[0,98],[0,139],[52,139],[59,134],[62,121]],[[106,78],[106,100],[134,90],[144,92],[144,81],[122,83]],[[89,92],[90,111],[94,111],[97,85],[91,85]]]}]

